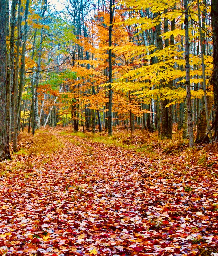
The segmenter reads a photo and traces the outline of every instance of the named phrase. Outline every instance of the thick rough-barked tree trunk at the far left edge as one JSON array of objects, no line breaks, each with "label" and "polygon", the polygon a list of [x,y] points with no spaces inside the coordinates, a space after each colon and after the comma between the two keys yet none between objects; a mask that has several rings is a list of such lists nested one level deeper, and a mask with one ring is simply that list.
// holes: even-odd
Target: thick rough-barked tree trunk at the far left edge
[{"label": "thick rough-barked tree trunk at the far left edge", "polygon": [[7,133],[6,1],[0,4],[0,160],[11,159]]}]

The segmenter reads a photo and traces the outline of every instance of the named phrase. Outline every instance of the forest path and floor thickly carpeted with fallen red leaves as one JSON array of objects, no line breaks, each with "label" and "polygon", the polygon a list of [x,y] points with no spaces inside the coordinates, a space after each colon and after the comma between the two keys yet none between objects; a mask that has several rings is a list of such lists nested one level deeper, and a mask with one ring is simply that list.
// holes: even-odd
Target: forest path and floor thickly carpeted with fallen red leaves
[{"label": "forest path and floor thickly carpeted with fallen red leaves", "polygon": [[218,255],[217,154],[48,133],[57,150],[1,163],[0,256]]}]

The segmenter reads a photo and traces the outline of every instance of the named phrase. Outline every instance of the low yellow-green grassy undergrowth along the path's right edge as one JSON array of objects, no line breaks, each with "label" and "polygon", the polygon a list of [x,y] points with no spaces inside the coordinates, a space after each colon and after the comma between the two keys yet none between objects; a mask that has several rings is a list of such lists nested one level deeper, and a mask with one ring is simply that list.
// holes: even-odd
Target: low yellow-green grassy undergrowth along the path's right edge
[{"label": "low yellow-green grassy undergrowth along the path's right edge", "polygon": [[[182,138],[182,131],[175,131],[172,139],[160,139],[158,132],[136,131],[131,134],[129,131],[115,130],[112,136],[108,136],[107,132],[91,133],[91,132],[72,132],[71,129],[66,129],[59,132],[62,135],[79,136],[81,138],[89,138],[94,142],[104,143],[106,145],[114,145],[122,147],[126,150],[134,150],[136,152],[145,153],[147,157],[166,158],[168,155],[181,158],[181,163],[185,166],[213,165],[210,156],[218,153],[218,144],[197,145],[190,148],[188,139]],[[74,143],[79,144],[75,139]]]}]

